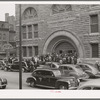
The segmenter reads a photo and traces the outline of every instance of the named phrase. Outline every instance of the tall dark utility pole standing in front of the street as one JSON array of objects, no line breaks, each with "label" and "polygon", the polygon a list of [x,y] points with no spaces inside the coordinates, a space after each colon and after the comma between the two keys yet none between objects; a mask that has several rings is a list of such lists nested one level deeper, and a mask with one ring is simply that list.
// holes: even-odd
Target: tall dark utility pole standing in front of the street
[{"label": "tall dark utility pole standing in front of the street", "polygon": [[21,4],[19,4],[19,89],[22,89],[22,35],[21,35]]}]

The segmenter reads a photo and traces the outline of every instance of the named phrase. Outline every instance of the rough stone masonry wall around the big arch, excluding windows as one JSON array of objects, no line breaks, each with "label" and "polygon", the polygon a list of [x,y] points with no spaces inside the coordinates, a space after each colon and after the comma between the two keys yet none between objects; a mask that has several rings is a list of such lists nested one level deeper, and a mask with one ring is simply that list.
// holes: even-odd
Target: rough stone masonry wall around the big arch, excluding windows
[{"label": "rough stone masonry wall around the big arch, excluding windows", "polygon": [[[38,15],[36,18],[26,20],[23,19],[23,13],[28,7],[33,7],[36,10]],[[44,45],[48,38],[55,32],[63,30],[69,32],[78,39],[83,49],[83,57],[91,58],[91,43],[99,43],[99,32],[94,34],[90,33],[90,15],[98,14],[98,16],[100,16],[99,5],[72,5],[72,11],[52,14],[52,4],[25,4],[21,6],[21,11],[22,25],[32,25],[38,23],[39,34],[39,38],[37,39],[32,38],[32,40],[23,41],[23,46],[32,45],[34,47],[35,45],[38,45],[39,54],[42,54]],[[98,18],[100,19],[100,17]],[[19,5],[16,5],[16,26],[19,26]],[[16,31],[18,35],[18,28]]]}]

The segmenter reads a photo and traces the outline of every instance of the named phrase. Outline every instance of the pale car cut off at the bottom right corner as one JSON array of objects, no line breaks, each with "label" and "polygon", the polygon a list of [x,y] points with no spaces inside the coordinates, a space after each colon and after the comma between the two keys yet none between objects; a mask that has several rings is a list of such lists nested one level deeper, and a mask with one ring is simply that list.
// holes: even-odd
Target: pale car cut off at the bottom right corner
[{"label": "pale car cut off at the bottom right corner", "polygon": [[78,87],[70,88],[70,90],[100,90],[100,79],[87,81]]}]

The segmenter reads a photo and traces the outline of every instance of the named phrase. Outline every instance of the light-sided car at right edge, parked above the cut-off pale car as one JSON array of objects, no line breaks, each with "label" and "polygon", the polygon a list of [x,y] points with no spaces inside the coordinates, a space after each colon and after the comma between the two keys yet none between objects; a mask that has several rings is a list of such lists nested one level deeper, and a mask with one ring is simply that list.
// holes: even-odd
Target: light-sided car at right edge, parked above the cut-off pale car
[{"label": "light-sided car at right edge, parked above the cut-off pale car", "polygon": [[90,63],[79,63],[82,70],[89,75],[90,78],[100,77],[99,70]]}]

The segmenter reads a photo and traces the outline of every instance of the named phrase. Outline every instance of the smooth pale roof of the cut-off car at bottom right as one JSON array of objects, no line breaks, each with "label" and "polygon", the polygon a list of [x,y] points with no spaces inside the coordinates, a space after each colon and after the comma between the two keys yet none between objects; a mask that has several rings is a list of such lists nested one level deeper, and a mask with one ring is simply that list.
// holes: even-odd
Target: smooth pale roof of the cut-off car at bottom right
[{"label": "smooth pale roof of the cut-off car at bottom right", "polygon": [[100,87],[100,79],[93,79],[93,80],[87,81],[83,83],[82,85],[80,85],[78,89],[85,86],[99,86]]}]

